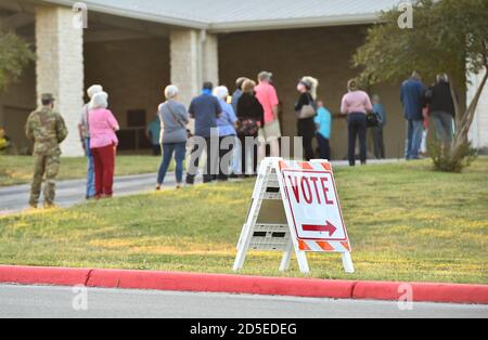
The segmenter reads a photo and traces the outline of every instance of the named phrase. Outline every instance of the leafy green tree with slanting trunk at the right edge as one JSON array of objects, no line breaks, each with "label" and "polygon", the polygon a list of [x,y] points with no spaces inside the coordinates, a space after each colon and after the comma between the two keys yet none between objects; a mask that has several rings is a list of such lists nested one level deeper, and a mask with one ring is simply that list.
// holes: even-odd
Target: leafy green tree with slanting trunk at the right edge
[{"label": "leafy green tree with slanting trunk at the right edge", "polygon": [[[488,80],[488,1],[415,0],[413,28],[401,29],[398,9],[384,12],[381,23],[368,31],[364,45],[354,56],[362,67],[360,78],[367,83],[399,82],[412,70],[434,79],[448,74],[454,97],[457,132],[445,153],[445,162],[459,165],[470,156],[468,131]],[[466,73],[484,75],[475,96],[467,105],[457,93],[466,92]],[[458,171],[447,166],[442,170]]]}]

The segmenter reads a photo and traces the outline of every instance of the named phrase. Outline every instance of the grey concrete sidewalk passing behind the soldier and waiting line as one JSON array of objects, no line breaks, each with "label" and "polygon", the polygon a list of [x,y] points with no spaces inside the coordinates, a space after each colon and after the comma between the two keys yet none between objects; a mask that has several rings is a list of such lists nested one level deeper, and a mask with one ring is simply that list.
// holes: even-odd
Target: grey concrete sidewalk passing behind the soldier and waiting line
[{"label": "grey concrete sidewalk passing behind the soldier and waiting line", "polygon": [[[398,162],[397,159],[370,160],[370,165]],[[332,161],[333,167],[347,167],[347,161]],[[201,176],[197,178],[201,180]],[[165,186],[176,185],[174,173],[168,173]],[[151,192],[156,186],[156,173],[120,176],[115,179],[116,196]],[[21,212],[28,208],[30,185],[0,187],[0,215]],[[56,205],[68,208],[85,201],[86,180],[60,181],[56,185]]]}]

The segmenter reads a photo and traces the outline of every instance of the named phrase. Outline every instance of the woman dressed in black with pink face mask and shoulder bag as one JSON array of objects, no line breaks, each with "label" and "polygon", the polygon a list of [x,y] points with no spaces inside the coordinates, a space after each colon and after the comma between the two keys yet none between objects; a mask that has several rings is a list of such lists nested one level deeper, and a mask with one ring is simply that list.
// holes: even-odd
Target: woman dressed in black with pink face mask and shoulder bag
[{"label": "woman dressed in black with pink face mask and shoulder bag", "polygon": [[297,86],[300,93],[295,104],[295,112],[298,118],[298,136],[303,138],[305,160],[314,158],[313,139],[316,138],[316,115],[317,115],[317,88],[319,81],[312,77],[304,77]]}]

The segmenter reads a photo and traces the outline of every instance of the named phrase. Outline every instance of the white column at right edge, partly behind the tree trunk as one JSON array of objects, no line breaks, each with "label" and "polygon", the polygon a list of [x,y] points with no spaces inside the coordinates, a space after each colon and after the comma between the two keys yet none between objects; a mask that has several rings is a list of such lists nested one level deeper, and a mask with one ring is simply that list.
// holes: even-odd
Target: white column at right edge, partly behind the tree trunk
[{"label": "white column at right edge, partly behind the tree trunk", "polygon": [[[484,73],[479,75],[470,75],[468,79],[472,84],[467,89],[467,105],[470,105],[476,90],[483,80]],[[476,110],[473,126],[470,131],[470,140],[476,148],[488,148],[488,84],[479,99],[478,108]]]}]

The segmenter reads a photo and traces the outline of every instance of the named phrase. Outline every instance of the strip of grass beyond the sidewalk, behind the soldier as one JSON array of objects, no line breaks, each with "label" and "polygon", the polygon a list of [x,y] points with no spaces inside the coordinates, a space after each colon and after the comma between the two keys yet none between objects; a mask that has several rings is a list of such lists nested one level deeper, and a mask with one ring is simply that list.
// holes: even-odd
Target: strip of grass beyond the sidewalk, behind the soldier
[{"label": "strip of grass beyond the sidewalk, behind the soldier", "polygon": [[[116,175],[156,172],[160,158],[152,156],[117,156]],[[0,186],[30,183],[34,158],[27,156],[0,156]],[[59,180],[84,179],[87,175],[85,157],[61,158]]]}]

